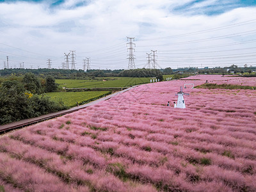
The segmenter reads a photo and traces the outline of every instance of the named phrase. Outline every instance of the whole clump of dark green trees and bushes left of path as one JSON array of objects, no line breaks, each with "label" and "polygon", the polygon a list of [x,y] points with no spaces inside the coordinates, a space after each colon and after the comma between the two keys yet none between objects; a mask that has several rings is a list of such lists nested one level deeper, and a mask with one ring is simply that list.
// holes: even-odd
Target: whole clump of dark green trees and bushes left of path
[{"label": "whole clump of dark green trees and bushes left of path", "polygon": [[39,95],[57,89],[58,84],[52,76],[42,79],[28,73],[23,77],[1,79],[0,125],[67,109],[63,102],[54,102],[44,94]]}]

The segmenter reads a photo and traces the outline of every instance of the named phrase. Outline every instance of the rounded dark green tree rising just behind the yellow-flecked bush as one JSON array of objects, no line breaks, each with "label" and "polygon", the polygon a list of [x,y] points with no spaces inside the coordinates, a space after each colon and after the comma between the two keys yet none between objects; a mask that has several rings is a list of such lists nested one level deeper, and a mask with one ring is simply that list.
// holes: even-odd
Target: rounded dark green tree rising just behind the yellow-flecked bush
[{"label": "rounded dark green tree rising just behind the yellow-flecked bush", "polygon": [[22,79],[22,83],[24,83],[24,87],[31,93],[40,94],[42,93],[41,82],[35,74],[28,72],[24,75]]}]

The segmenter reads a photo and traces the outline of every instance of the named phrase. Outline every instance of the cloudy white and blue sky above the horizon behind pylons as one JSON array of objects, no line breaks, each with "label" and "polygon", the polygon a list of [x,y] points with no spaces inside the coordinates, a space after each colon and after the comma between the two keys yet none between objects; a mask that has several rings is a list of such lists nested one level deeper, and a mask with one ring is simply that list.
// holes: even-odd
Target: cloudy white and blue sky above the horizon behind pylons
[{"label": "cloudy white and blue sky above the horizon behind pylons", "polygon": [[[256,66],[255,0],[0,0],[0,68],[61,68],[76,51],[95,69]],[[71,56],[70,56],[71,59]],[[71,68],[71,64],[70,64]]]}]

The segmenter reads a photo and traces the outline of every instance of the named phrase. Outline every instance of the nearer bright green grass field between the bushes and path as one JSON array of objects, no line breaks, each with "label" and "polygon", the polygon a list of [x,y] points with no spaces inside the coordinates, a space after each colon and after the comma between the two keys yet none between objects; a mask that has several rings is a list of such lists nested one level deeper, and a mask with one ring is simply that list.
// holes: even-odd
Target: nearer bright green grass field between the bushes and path
[{"label": "nearer bright green grass field between the bushes and path", "polygon": [[77,102],[79,105],[81,105],[86,102],[99,99],[100,97],[104,97],[104,95],[108,95],[109,93],[111,92],[53,92],[46,93],[46,95],[51,97],[52,100],[56,100],[57,102],[62,100],[66,106],[71,108],[77,106]]}]

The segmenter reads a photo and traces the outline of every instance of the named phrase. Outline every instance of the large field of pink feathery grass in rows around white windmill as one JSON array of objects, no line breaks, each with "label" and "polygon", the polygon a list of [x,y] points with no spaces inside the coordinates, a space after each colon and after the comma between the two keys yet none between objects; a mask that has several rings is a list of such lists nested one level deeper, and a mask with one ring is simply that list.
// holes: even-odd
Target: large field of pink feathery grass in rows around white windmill
[{"label": "large field of pink feathery grass in rows around white windmill", "polygon": [[255,86],[255,79],[240,78],[143,84],[1,136],[0,185],[6,191],[256,191],[256,90],[187,86],[186,109],[166,106],[184,83]]}]

